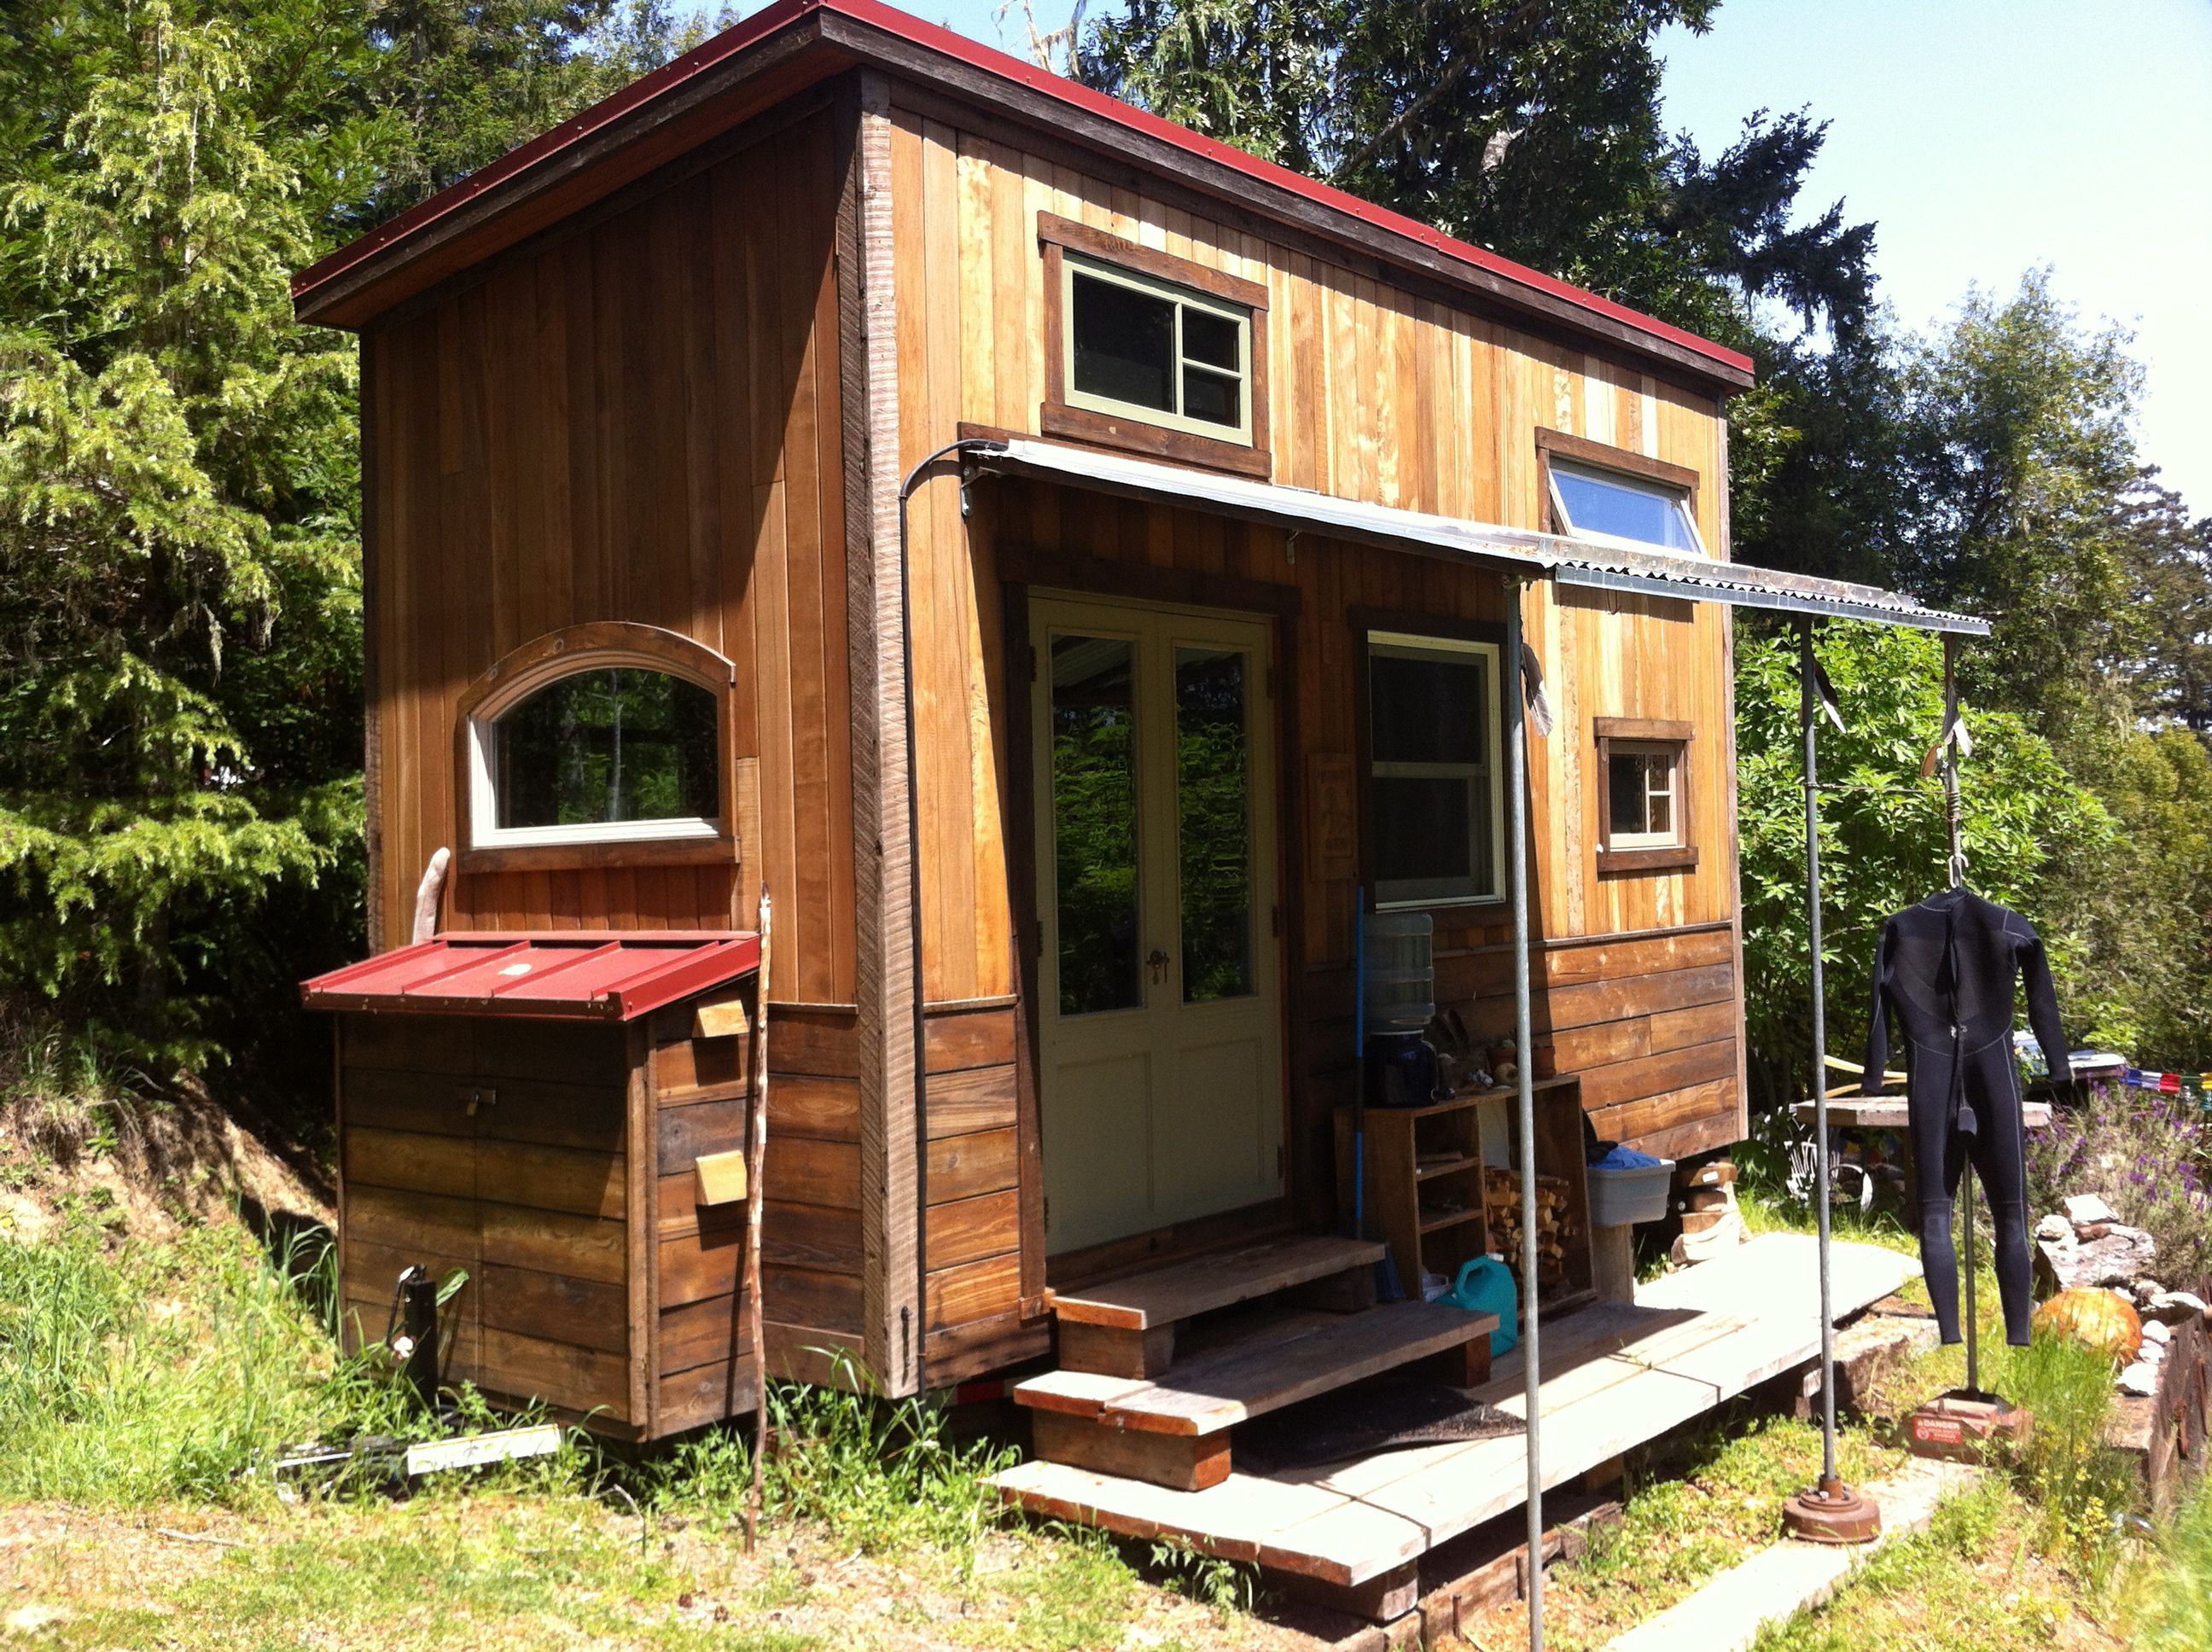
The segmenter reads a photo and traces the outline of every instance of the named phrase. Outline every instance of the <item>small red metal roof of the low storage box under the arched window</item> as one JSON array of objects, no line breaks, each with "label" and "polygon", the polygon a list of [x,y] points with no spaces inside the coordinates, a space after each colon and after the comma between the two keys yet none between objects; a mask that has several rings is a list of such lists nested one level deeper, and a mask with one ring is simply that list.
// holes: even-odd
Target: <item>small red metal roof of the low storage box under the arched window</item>
[{"label": "small red metal roof of the low storage box under the arched window", "polygon": [[301,982],[327,1011],[633,1022],[761,966],[743,929],[434,935]]}]

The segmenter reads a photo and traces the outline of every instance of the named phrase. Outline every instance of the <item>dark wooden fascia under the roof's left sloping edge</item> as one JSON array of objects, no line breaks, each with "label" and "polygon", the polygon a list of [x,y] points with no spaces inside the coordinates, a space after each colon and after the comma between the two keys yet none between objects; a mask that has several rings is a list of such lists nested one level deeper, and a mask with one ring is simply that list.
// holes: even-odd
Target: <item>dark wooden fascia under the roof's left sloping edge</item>
[{"label": "dark wooden fascia under the roof's left sloping edge", "polygon": [[[363,327],[440,276],[504,252],[688,148],[852,69],[843,53],[818,51],[821,18],[807,0],[783,0],[540,133],[292,276],[296,316],[323,327]],[[706,66],[690,66],[710,51]],[[549,201],[595,170],[604,177],[593,181],[588,199],[575,206]],[[529,219],[533,208],[538,221],[515,234],[513,219]],[[471,254],[471,241],[480,241],[482,252]],[[436,257],[440,252],[442,259]]]}]

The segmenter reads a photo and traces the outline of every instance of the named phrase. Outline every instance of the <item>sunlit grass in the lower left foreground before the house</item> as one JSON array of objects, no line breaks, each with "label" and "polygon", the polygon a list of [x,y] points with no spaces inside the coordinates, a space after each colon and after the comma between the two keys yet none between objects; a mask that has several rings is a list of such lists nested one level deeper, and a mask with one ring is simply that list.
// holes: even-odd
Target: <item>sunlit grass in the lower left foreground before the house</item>
[{"label": "sunlit grass in the lower left foreground before the house", "polygon": [[0,1241],[0,1641],[1075,1652],[1141,1625],[1177,1652],[1250,1625],[1250,1572],[1009,1524],[984,1484],[1004,1453],[838,1389],[772,1389],[754,1557],[737,1426],[279,1499],[276,1449],[431,1422],[383,1362],[338,1358],[323,1252],[117,1227],[77,1210],[51,1243]]}]

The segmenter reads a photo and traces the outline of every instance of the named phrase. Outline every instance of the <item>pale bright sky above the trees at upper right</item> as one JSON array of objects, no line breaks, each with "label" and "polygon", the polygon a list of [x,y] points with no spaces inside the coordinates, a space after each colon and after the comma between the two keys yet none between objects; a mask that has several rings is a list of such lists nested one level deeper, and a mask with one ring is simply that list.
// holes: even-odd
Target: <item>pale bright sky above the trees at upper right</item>
[{"label": "pale bright sky above the trees at upper right", "polygon": [[[909,0],[1009,51],[1022,11]],[[1093,0],[1093,13],[1102,7]],[[1042,27],[1068,0],[1035,0]],[[1898,318],[2051,265],[2135,332],[2141,451],[2212,513],[2212,0],[1725,0],[1668,31],[1668,124],[1714,153],[1754,108],[1832,122],[1805,201],[1874,219]]]}]

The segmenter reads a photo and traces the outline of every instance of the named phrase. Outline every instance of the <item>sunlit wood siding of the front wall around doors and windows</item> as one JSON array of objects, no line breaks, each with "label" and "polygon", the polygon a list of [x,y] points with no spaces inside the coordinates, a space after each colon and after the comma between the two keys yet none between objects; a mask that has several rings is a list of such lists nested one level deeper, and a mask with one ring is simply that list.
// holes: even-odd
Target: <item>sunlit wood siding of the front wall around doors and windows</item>
[{"label": "sunlit wood siding of the front wall around doors and windows", "polygon": [[[891,184],[902,464],[962,422],[1037,429],[1046,294],[1035,223],[1051,212],[1267,287],[1276,482],[1537,529],[1546,509],[1535,431],[1559,429],[1697,471],[1699,531],[1725,555],[1723,422],[1705,391],[1396,290],[1354,268],[1358,259],[1336,263],[1077,170],[1046,142],[960,117],[927,93],[902,102],[894,93]],[[1498,573],[1469,564],[1312,535],[1292,546],[1272,529],[1002,480],[980,482],[962,520],[951,482],[925,487],[914,502],[911,588],[929,1002],[1018,991],[1009,940],[1022,891],[1006,882],[1004,732],[1009,694],[1026,683],[1002,681],[1000,582],[1015,568],[1037,584],[1082,586],[1086,566],[1188,579],[1194,604],[1208,602],[1206,582],[1296,593],[1287,635],[1279,630],[1294,661],[1285,708],[1296,736],[1285,750],[1294,832],[1307,827],[1307,759],[1354,759],[1363,745],[1354,610],[1495,624],[1506,602]],[[1723,615],[1546,584],[1522,602],[1555,710],[1531,765],[1540,1026],[1559,1070],[1584,1075],[1599,1130],[1670,1152],[1732,1141],[1741,1004]],[[1694,725],[1694,869],[1599,876],[1597,717]],[[1307,843],[1285,878],[1298,924],[1287,1011],[1292,1185],[1312,1214],[1316,1190],[1327,1196],[1327,1108],[1349,1081],[1356,871],[1323,867]],[[1644,953],[1604,944],[1646,935],[1666,944]],[[1502,907],[1440,909],[1440,1000],[1475,1011],[1478,1024],[1509,1006],[1506,942]],[[938,1192],[927,1201],[936,1205]],[[933,1232],[938,1212],[927,1219]]]}]

